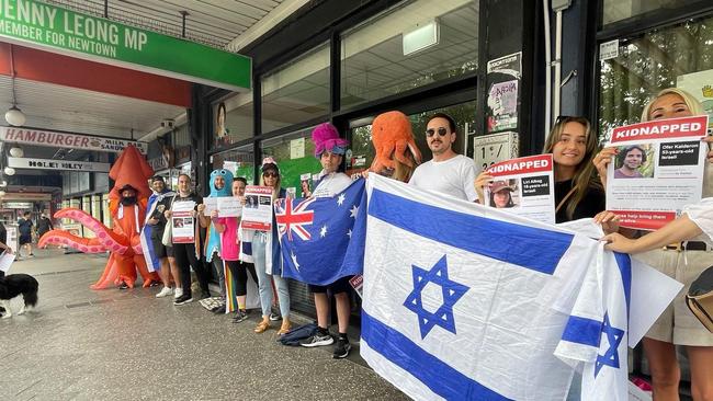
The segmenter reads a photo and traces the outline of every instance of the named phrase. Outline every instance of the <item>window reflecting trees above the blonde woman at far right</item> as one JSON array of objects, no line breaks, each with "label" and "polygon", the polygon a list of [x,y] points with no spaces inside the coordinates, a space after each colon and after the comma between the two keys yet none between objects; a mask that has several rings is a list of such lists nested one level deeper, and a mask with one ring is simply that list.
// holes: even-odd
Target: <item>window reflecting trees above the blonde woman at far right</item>
[{"label": "window reflecting trees above the blonde woman at far right", "polygon": [[638,123],[648,100],[671,87],[691,93],[713,116],[713,18],[620,39],[619,56],[600,68],[600,137]]}]

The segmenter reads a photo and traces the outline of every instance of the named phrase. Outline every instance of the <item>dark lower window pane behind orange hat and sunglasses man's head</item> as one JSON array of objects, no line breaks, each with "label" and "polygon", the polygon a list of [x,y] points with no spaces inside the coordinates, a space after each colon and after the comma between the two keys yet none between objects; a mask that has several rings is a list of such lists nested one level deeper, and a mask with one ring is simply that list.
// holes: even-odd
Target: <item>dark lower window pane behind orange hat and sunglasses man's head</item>
[{"label": "dark lower window pane behind orange hat and sunglasses man's head", "polygon": [[[426,125],[428,118],[435,113],[445,113],[455,119],[457,125],[457,140],[453,144],[453,149],[461,154],[466,153],[465,144],[467,138],[467,127],[475,124],[475,106],[476,102],[465,102],[453,106],[429,110],[421,113],[409,115],[411,121],[411,129],[416,146],[421,151],[422,161],[432,159],[431,151],[426,144]],[[370,118],[361,118],[350,124],[351,128],[351,148],[347,158],[347,173],[354,174],[367,170],[374,160],[375,150],[372,145],[372,126],[371,122],[376,116]]]}]

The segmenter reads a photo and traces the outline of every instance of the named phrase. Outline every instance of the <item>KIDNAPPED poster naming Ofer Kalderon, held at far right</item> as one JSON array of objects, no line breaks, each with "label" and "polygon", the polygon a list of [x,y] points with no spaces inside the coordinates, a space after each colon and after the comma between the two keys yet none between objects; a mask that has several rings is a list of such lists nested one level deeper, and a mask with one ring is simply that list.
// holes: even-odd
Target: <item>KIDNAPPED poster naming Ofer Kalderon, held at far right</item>
[{"label": "KIDNAPPED poster naming Ofer Kalderon, held at far right", "polygon": [[607,172],[607,210],[623,227],[655,230],[697,203],[703,192],[708,116],[658,119],[618,127]]}]

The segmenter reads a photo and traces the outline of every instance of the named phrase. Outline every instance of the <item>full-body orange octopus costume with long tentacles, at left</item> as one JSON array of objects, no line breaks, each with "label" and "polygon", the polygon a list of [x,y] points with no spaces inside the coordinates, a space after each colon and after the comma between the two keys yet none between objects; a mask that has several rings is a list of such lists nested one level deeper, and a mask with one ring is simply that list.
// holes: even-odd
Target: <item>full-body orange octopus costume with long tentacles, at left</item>
[{"label": "full-body orange octopus costume with long tentacles, at left", "polygon": [[[128,146],[118,157],[109,172],[115,184],[109,193],[109,210],[112,215],[113,229],[102,225],[86,211],[77,208],[64,208],[55,214],[55,218],[70,218],[81,222],[92,230],[97,238],[88,239],[70,234],[67,231],[52,230],[39,239],[39,247],[47,244],[68,245],[84,253],[110,252],[104,273],[90,288],[104,289],[125,283],[134,288],[136,270],[144,278],[144,287],[159,283],[156,272],[149,272],[144,259],[140,232],[144,227],[146,204],[151,191],[148,179],[154,175],[154,169],[134,146]],[[122,191],[134,190],[136,202],[132,205],[122,204]]]}]

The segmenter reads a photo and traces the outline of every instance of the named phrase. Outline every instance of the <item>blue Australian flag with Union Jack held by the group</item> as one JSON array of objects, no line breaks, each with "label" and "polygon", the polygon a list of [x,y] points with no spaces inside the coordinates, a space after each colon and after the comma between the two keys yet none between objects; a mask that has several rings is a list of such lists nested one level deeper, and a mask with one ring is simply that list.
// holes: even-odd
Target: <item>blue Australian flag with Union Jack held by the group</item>
[{"label": "blue Australian flag with Union Jack held by the group", "polygon": [[313,285],[361,274],[366,231],[364,180],[332,197],[281,199],[275,219],[283,277]]}]

